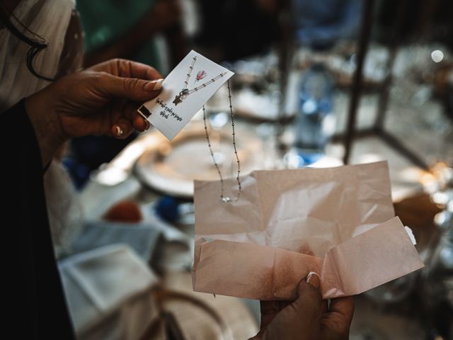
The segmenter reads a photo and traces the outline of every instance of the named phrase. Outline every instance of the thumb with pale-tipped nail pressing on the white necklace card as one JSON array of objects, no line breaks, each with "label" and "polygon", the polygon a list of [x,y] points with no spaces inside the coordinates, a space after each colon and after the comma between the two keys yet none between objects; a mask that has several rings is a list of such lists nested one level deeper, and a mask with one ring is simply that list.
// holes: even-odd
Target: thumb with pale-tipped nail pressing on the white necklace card
[{"label": "thumb with pale-tipped nail pressing on the white necklace card", "polygon": [[149,101],[162,89],[164,79],[145,80],[138,78],[117,77],[105,73],[103,87],[109,97],[127,98],[131,101]]}]

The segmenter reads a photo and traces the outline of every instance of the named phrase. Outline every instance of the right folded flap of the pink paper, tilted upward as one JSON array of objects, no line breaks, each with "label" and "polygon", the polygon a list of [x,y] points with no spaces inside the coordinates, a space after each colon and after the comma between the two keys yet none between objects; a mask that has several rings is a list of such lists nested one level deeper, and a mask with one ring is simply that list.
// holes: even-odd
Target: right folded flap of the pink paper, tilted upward
[{"label": "right folded flap of the pink paper, tilted upward", "polygon": [[398,217],[328,251],[345,295],[355,295],[420,268],[423,262]]}]

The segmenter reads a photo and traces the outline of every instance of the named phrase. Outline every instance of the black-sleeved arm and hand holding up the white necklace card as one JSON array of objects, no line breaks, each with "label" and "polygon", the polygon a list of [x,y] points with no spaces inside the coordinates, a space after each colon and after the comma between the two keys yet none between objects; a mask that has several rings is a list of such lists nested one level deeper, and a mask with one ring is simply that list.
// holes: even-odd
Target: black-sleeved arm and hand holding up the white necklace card
[{"label": "black-sleeved arm and hand holding up the white necklace card", "polygon": [[21,339],[74,339],[52,249],[42,164],[70,137],[124,138],[133,128],[149,127],[135,101],[156,96],[160,77],[152,67],[113,60],[59,79],[0,114],[1,212],[8,222],[2,249],[11,278],[5,281],[11,298],[4,302],[4,331]]}]

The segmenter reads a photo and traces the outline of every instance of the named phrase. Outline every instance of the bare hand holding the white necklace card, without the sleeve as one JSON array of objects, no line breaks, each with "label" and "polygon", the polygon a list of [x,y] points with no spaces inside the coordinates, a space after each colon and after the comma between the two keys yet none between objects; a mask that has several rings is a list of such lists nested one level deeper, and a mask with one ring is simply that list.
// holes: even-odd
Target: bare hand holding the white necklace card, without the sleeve
[{"label": "bare hand holding the white necklace card, without the sleeve", "polygon": [[71,137],[126,138],[149,123],[138,106],[159,94],[161,74],[128,60],[110,60],[63,77],[25,101],[43,164]]}]

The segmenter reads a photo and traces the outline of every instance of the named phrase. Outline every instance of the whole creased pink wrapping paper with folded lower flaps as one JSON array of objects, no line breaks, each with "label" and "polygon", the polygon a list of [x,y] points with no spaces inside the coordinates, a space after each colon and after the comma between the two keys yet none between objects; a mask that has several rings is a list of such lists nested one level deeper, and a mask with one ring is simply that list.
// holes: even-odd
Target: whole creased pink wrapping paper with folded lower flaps
[{"label": "whole creased pink wrapping paper with folded lower flaps", "polygon": [[[226,181],[234,193],[234,180]],[[224,204],[195,181],[193,288],[259,300],[296,297],[309,271],[324,298],[355,295],[423,267],[394,217],[386,162],[256,171]]]}]

